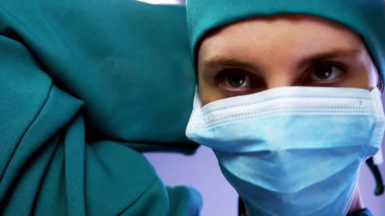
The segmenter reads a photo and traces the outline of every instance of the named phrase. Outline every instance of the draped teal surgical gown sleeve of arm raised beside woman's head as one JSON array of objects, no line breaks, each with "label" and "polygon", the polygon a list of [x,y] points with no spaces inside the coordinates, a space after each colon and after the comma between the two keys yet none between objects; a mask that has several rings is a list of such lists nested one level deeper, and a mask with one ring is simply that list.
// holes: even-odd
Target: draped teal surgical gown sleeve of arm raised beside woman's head
[{"label": "draped teal surgical gown sleeve of arm raised beside woman's head", "polygon": [[199,214],[141,154],[198,147],[184,7],[0,0],[0,47],[1,215]]}]

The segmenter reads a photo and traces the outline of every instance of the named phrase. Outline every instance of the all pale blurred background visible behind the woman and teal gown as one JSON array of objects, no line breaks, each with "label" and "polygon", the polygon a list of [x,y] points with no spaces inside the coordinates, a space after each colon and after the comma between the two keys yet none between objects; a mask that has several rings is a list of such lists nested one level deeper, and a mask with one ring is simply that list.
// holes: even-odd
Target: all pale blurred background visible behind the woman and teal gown
[{"label": "all pale blurred background visible behind the woman and teal gown", "polygon": [[[151,4],[186,4],[186,0],[140,1]],[[202,194],[202,216],[238,216],[238,194],[222,176],[218,161],[209,148],[201,146],[192,156],[176,153],[146,153],[145,156],[156,168],[165,184],[189,185]],[[384,179],[385,164],[381,164],[380,169]],[[374,195],[375,178],[366,164],[361,168],[359,184],[365,206],[374,216],[384,216],[385,195],[378,197]]]}]

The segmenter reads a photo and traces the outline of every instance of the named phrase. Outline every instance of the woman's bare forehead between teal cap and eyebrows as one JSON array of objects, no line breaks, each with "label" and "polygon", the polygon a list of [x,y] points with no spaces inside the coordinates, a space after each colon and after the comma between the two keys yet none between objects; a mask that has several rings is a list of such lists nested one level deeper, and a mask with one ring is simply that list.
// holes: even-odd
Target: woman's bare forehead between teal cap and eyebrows
[{"label": "woman's bare forehead between teal cap and eyebrows", "polygon": [[[360,35],[330,20],[307,15],[258,17],[212,30],[201,43],[202,58],[303,56],[309,52],[366,50]],[[257,56],[256,56],[257,55]],[[253,60],[253,59],[248,59]]]}]

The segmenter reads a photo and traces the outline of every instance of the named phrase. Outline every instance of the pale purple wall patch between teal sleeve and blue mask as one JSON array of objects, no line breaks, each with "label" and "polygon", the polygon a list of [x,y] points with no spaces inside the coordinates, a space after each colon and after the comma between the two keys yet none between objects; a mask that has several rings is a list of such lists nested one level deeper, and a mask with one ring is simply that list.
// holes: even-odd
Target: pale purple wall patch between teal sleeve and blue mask
[{"label": "pale purple wall patch between teal sleeve and blue mask", "polygon": [[203,196],[201,216],[238,216],[238,194],[222,176],[211,149],[201,146],[195,155],[147,153],[167,185],[189,185]]}]

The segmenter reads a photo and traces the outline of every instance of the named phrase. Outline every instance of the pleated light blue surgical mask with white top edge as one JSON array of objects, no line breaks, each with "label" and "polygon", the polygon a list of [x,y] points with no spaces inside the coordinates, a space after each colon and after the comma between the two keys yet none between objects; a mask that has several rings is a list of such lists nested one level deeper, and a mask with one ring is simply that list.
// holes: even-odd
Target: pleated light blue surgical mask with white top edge
[{"label": "pleated light blue surgical mask with white top edge", "polygon": [[384,133],[378,89],[280,87],[201,106],[187,138],[211,148],[250,216],[345,216]]}]

